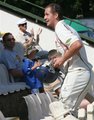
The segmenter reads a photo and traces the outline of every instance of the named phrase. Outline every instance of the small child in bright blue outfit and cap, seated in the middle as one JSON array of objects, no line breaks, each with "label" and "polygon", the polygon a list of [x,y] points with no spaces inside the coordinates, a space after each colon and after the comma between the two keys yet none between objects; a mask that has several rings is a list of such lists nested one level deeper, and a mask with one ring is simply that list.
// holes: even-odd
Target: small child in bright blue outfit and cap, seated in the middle
[{"label": "small child in bright blue outfit and cap, seated in the middle", "polygon": [[25,75],[25,81],[27,85],[30,86],[32,93],[44,92],[43,83],[38,79],[36,75],[37,68],[41,66],[41,62],[39,60],[33,60],[37,52],[37,49],[35,51],[29,50],[27,58],[23,59],[22,67],[23,73]]}]

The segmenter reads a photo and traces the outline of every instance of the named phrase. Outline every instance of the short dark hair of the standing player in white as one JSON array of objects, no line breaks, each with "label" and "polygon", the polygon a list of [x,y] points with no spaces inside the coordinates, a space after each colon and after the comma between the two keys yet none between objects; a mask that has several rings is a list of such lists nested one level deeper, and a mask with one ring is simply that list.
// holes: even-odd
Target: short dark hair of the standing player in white
[{"label": "short dark hair of the standing player in white", "polygon": [[51,4],[47,5],[45,7],[45,9],[48,8],[48,7],[51,8],[52,13],[57,13],[58,14],[59,20],[61,20],[63,18],[62,9],[61,9],[60,5],[58,5],[56,3],[51,3]]}]

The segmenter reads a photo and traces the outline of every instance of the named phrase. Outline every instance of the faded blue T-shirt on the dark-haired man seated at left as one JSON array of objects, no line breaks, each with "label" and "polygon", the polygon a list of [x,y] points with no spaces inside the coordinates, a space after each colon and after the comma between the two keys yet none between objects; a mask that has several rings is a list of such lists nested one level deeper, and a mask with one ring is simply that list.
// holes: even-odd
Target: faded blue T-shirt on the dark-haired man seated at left
[{"label": "faded blue T-shirt on the dark-haired man seated at left", "polygon": [[[22,59],[14,50],[3,49],[0,62],[5,64],[8,70],[16,69],[22,71]],[[20,82],[22,78],[14,78],[15,82]]]}]

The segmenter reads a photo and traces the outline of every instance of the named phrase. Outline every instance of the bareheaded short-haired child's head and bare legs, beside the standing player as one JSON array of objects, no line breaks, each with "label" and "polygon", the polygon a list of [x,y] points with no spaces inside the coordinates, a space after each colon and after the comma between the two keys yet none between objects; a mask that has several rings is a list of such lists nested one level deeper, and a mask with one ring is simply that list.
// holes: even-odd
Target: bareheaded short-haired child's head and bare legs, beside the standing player
[{"label": "bareheaded short-haired child's head and bare legs, beside the standing player", "polygon": [[[57,52],[56,49],[52,49],[48,52],[48,60],[51,62],[52,59],[54,59],[57,56],[60,56],[61,53]],[[55,91],[56,95],[59,96],[60,93],[60,89],[61,89],[61,85],[62,85],[62,78],[64,77],[64,74],[60,74],[60,76],[58,76],[58,78],[52,82],[52,83],[47,83],[44,84],[44,90],[45,91]]]}]

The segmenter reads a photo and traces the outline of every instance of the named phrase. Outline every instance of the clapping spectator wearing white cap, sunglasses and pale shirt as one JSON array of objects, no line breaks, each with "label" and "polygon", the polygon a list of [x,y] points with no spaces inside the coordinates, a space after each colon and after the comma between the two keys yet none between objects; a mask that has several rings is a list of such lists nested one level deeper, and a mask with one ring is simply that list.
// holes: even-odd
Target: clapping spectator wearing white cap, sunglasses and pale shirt
[{"label": "clapping spectator wearing white cap, sunglasses and pale shirt", "polygon": [[[16,40],[18,42],[21,42],[24,45],[25,48],[25,52],[27,51],[27,49],[29,47],[33,47],[34,45],[38,44],[39,42],[39,35],[42,32],[42,29],[38,29],[37,32],[37,37],[36,40],[34,39],[34,30],[31,30],[31,33],[27,31],[27,20],[26,18],[21,18],[18,22],[17,22],[18,28],[19,28],[19,33],[16,36]],[[40,46],[39,46],[40,47]]]}]

